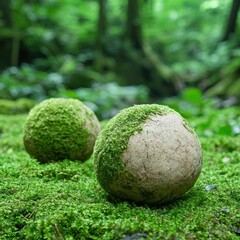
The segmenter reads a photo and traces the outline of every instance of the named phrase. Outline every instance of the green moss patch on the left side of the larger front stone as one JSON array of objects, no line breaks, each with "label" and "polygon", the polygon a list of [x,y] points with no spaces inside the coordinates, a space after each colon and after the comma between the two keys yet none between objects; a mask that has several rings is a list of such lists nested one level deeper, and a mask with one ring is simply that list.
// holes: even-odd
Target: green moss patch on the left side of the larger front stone
[{"label": "green moss patch on the left side of the larger front stone", "polygon": [[96,174],[103,188],[107,190],[109,183],[123,171],[124,166],[120,156],[127,148],[130,136],[141,131],[150,116],[168,113],[177,114],[163,105],[136,105],[122,110],[108,122],[100,133],[94,148]]}]

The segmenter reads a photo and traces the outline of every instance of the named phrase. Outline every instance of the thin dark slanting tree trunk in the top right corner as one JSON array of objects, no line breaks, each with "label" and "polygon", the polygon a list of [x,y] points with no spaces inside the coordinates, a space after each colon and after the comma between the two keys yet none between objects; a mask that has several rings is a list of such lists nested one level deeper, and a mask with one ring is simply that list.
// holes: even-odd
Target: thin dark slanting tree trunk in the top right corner
[{"label": "thin dark slanting tree trunk in the top right corner", "polygon": [[235,33],[239,8],[240,8],[240,1],[233,0],[231,11],[228,17],[225,34],[223,36],[223,41],[229,40],[229,38]]}]

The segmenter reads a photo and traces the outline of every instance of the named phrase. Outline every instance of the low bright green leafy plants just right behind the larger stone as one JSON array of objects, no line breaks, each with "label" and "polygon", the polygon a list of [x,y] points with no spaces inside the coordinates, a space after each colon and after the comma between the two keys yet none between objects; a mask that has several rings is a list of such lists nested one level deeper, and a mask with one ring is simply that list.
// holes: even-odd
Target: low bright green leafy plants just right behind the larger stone
[{"label": "low bright green leafy plants just right behind the larger stone", "polygon": [[217,99],[203,97],[197,88],[186,88],[179,97],[162,102],[184,117],[194,119],[193,127],[199,135],[214,138],[216,134],[232,137],[240,133],[239,108],[232,106],[219,110],[214,106],[217,105]]}]

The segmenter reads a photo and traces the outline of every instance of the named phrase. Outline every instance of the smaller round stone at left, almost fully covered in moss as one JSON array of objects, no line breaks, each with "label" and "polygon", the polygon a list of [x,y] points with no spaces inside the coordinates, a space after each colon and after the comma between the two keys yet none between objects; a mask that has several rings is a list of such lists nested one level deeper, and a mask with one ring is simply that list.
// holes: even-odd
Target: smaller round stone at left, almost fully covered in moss
[{"label": "smaller round stone at left, almost fully covered in moss", "polygon": [[81,101],[52,98],[30,111],[23,139],[26,151],[40,162],[85,161],[99,131],[97,117]]}]

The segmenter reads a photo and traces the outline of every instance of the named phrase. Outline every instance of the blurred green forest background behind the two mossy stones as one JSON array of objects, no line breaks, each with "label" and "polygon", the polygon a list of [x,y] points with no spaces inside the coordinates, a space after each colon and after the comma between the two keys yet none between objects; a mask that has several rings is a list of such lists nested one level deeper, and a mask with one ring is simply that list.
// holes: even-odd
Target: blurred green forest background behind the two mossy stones
[{"label": "blurred green forest background behind the two mossy stones", "polygon": [[78,98],[100,119],[134,103],[195,115],[205,99],[239,104],[239,7],[239,0],[1,0],[1,111],[12,100],[30,108],[27,99],[49,97]]}]

